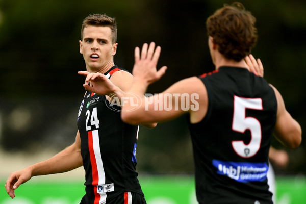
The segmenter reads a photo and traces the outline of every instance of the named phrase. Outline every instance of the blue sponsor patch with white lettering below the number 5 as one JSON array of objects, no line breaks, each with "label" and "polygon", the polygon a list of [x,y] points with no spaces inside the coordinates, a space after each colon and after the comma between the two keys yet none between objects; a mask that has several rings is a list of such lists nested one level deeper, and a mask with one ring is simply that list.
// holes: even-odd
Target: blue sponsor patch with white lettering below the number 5
[{"label": "blue sponsor patch with white lettering below the number 5", "polygon": [[217,173],[225,175],[237,182],[261,182],[267,178],[268,165],[266,163],[225,162],[213,160]]}]

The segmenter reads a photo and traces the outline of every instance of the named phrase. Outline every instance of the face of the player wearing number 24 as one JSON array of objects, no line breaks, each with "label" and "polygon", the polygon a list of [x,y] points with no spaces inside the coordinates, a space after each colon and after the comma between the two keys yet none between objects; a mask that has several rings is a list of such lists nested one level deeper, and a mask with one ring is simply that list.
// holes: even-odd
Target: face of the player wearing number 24
[{"label": "face of the player wearing number 24", "polygon": [[83,54],[87,71],[98,72],[114,65],[118,43],[112,44],[111,28],[89,25],[83,30],[80,53]]}]

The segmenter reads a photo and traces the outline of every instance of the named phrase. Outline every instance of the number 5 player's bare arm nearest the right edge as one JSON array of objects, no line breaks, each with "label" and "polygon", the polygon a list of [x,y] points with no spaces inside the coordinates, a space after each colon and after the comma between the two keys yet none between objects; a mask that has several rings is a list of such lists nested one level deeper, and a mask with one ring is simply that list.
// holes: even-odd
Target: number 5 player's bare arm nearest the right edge
[{"label": "number 5 player's bare arm nearest the right edge", "polygon": [[281,93],[272,85],[271,87],[274,89],[277,100],[275,136],[286,147],[296,148],[302,141],[301,126],[286,110]]}]

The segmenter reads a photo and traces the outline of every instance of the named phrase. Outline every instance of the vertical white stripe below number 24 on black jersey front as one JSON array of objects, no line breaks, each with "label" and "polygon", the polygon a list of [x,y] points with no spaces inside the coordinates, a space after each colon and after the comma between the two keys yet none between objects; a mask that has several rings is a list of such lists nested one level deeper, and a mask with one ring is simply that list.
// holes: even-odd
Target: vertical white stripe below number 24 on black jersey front
[{"label": "vertical white stripe below number 24 on black jersey front", "polygon": [[[98,130],[92,131],[92,143],[93,143],[92,144],[93,145],[93,151],[94,151],[94,156],[95,156],[95,159],[96,159],[98,176],[99,176],[98,185],[103,185],[103,184],[105,184],[105,172],[104,172],[104,167],[103,167],[103,162],[102,162],[102,157],[101,157]],[[100,198],[99,203],[105,203],[106,193],[100,193],[100,196],[101,196],[101,198]]]}]

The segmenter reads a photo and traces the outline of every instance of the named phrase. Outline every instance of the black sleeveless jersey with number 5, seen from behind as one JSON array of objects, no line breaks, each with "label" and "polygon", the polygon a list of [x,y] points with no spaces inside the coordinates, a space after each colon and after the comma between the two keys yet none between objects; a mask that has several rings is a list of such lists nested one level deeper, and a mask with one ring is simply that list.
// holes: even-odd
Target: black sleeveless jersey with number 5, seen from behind
[{"label": "black sleeveless jersey with number 5, seen from behind", "polygon": [[272,203],[268,152],[277,102],[261,77],[220,67],[200,77],[209,104],[205,118],[190,124],[200,203]]}]

